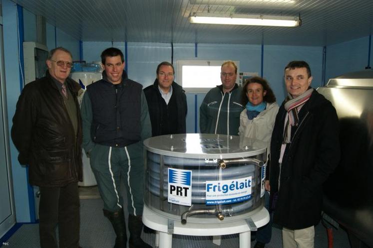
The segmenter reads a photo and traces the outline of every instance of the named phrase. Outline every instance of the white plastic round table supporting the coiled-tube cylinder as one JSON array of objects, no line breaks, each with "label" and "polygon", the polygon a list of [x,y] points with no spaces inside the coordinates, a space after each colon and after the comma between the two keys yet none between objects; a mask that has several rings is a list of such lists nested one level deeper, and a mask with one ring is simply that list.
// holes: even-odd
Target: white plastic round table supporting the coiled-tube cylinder
[{"label": "white plastic round table supporting the coiled-tube cylinder", "polygon": [[[229,218],[229,217],[226,217]],[[248,215],[248,218],[254,222],[257,228],[266,225],[269,220],[269,213],[267,209],[262,208],[259,212]],[[235,222],[224,222],[219,224],[197,224],[186,223],[181,224],[181,221],[172,220],[173,230],[168,230],[168,218],[161,216],[151,211],[144,205],[142,213],[142,222],[145,226],[156,230],[155,246],[159,248],[172,248],[172,234],[190,235],[190,236],[215,236],[214,243],[219,243],[221,235],[240,234],[240,248],[250,248],[251,245],[251,231],[246,220],[239,220]]]}]

